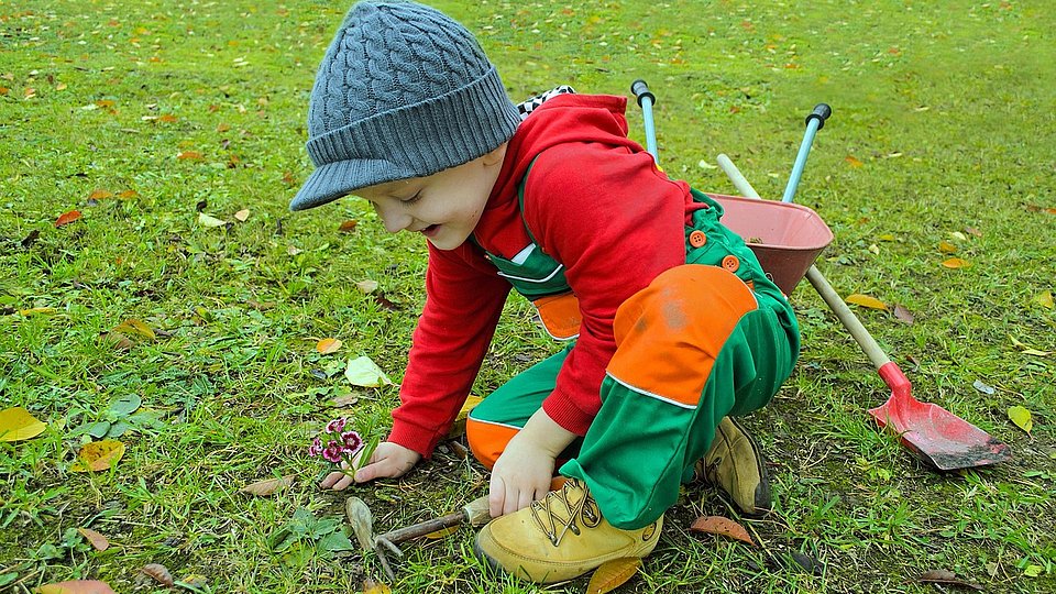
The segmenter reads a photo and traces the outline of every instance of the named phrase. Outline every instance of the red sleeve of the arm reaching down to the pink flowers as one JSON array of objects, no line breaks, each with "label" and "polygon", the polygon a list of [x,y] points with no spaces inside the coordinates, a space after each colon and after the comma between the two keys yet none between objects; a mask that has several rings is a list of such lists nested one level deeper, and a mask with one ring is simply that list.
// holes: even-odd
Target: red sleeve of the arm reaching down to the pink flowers
[{"label": "red sleeve of the arm reaching down to the pink flowers", "polygon": [[469,243],[429,245],[426,307],[393,410],[389,441],[428,458],[465,402],[510,286]]}]

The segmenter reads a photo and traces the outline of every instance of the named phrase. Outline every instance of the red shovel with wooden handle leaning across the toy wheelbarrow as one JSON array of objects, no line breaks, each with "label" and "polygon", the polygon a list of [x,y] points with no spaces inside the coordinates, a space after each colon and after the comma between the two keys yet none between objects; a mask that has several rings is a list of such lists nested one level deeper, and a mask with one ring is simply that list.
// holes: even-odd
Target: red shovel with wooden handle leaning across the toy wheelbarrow
[{"label": "red shovel with wooden handle leaning across the toy wheelbarrow", "polygon": [[[718,164],[738,191],[749,198],[759,198],[726,155],[718,156]],[[903,446],[938,470],[985,466],[1004,462],[1012,457],[1008,444],[993,439],[982,429],[938,405],[914,398],[910,393],[910,381],[902,370],[888,359],[858,317],[822,276],[821,271],[811,266],[806,272],[806,279],[814,285],[818,295],[836,314],[844,328],[876,365],[880,377],[891,388],[888,402],[869,410],[881,428],[891,429],[901,438]]]}]

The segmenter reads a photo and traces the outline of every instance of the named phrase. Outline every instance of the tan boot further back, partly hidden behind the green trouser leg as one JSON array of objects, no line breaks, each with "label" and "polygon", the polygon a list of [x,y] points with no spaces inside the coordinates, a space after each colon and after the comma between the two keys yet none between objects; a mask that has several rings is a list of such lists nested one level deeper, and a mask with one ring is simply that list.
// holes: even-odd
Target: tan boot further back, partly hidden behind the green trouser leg
[{"label": "tan boot further back, partly hidden behind the green trouser leg", "polygon": [[698,477],[728,493],[745,515],[761,516],[773,507],[759,446],[732,417],[715,429],[712,448],[694,470]]}]

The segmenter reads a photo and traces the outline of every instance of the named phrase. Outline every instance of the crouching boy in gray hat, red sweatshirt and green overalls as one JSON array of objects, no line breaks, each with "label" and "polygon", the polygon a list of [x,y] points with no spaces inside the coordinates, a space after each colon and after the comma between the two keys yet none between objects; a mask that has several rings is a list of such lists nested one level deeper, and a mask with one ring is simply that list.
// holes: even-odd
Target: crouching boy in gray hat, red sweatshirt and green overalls
[{"label": "crouching boy in gray hat, red sweatshirt and green overalls", "polygon": [[[492,469],[476,550],[549,583],[657,544],[694,470],[746,513],[770,505],[728,416],[791,373],[788,301],[718,218],[627,139],[626,100],[562,94],[524,121],[473,35],[410,2],[355,4],[312,88],[317,169],[290,208],[353,194],[429,248],[426,306],[393,430],[355,482],[429,457],[470,392],[510,288],[568,349],[470,416]],[[554,471],[566,481],[550,491]],[[322,486],[344,488],[341,473]]]}]

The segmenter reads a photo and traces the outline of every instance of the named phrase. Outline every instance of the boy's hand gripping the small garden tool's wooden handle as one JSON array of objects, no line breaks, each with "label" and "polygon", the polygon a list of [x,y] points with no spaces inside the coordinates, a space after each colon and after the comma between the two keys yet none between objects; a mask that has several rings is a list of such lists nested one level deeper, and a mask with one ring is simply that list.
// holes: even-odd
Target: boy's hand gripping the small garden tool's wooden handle
[{"label": "boy's hand gripping the small garden tool's wooden handle", "polygon": [[492,517],[512,514],[543,498],[550,492],[554,460],[575,437],[543,409],[537,410],[492,469],[487,496]]}]

